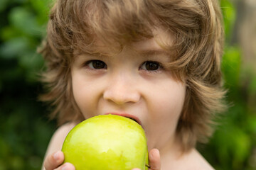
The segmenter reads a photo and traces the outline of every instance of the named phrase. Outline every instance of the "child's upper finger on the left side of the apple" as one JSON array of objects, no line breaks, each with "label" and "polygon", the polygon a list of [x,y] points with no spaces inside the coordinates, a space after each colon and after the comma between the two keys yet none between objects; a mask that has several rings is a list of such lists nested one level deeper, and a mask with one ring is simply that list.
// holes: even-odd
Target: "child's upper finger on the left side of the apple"
[{"label": "child's upper finger on the left side of the apple", "polygon": [[44,162],[43,166],[46,170],[53,170],[60,166],[64,161],[64,154],[61,151],[55,152],[48,157],[46,157],[46,161]]}]

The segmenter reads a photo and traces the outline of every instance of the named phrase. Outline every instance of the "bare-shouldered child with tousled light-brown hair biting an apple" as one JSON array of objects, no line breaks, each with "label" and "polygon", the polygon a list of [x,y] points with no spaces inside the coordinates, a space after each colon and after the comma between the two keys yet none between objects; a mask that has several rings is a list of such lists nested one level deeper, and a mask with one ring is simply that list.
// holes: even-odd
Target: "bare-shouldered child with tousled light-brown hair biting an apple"
[{"label": "bare-shouldered child with tousled light-brown hair biting an apple", "polygon": [[152,170],[213,169],[195,147],[224,108],[221,25],[217,0],[57,0],[41,49],[60,125],[45,169],[75,169],[65,136],[109,113],[141,123]]}]

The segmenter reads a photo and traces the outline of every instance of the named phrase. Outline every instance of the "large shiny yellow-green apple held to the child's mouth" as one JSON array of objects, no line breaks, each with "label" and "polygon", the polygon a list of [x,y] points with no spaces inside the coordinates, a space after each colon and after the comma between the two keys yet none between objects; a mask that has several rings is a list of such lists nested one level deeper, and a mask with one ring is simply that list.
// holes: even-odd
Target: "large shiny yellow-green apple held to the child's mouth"
[{"label": "large shiny yellow-green apple held to the child's mouth", "polygon": [[146,135],[134,120],[97,115],[79,123],[63,143],[64,162],[76,170],[148,169]]}]

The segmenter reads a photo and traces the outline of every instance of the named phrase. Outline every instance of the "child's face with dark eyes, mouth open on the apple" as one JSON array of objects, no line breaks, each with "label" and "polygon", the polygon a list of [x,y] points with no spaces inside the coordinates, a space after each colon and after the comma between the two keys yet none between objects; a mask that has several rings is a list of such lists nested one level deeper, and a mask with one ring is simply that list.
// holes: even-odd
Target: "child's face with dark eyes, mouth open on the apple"
[{"label": "child's face with dark eyes, mouth open on the apple", "polygon": [[[163,31],[154,33],[156,39],[172,42]],[[80,55],[71,71],[75,101],[85,118],[112,113],[136,119],[149,149],[161,149],[174,141],[186,91],[161,67],[170,61],[154,38],[112,57]]]}]

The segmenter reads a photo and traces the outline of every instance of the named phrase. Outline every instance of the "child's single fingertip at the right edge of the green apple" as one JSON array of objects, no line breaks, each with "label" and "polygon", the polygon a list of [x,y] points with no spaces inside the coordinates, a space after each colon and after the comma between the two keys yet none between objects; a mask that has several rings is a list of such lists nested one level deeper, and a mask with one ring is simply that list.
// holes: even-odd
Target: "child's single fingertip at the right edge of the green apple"
[{"label": "child's single fingertip at the right edge of the green apple", "polygon": [[149,166],[150,170],[161,169],[159,149],[151,149],[151,151],[149,152]]}]

